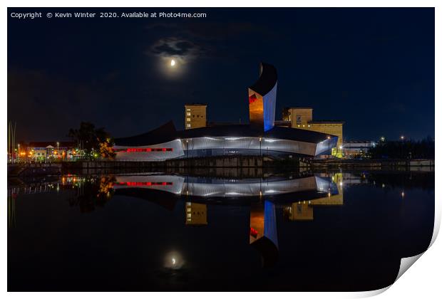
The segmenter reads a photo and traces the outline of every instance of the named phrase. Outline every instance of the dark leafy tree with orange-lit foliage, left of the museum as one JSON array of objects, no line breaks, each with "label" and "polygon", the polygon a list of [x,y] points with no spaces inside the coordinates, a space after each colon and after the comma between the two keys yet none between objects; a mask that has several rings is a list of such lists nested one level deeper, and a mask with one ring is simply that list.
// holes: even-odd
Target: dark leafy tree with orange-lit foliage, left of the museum
[{"label": "dark leafy tree with orange-lit foliage, left of the museum", "polygon": [[91,122],[81,122],[78,129],[69,129],[68,137],[77,142],[87,158],[93,159],[100,155],[104,158],[113,158],[113,139],[103,127],[96,128]]}]

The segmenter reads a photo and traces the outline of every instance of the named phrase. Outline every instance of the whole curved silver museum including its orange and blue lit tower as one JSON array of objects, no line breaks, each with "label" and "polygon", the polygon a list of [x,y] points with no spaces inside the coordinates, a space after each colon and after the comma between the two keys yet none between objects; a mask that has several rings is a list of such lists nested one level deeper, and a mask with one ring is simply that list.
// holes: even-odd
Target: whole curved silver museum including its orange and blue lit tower
[{"label": "whole curved silver museum including its orange and blue lit tower", "polygon": [[277,71],[261,63],[249,88],[250,125],[221,125],[177,131],[173,122],[142,135],[115,139],[116,159],[155,161],[225,155],[314,157],[336,147],[338,137],[288,127],[274,127]]}]

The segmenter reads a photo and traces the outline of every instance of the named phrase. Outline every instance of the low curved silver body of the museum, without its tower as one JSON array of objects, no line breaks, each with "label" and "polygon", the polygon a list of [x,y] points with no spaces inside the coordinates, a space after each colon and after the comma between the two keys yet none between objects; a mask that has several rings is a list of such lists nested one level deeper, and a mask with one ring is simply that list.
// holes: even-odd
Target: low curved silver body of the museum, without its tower
[{"label": "low curved silver body of the museum, without its tower", "polygon": [[[148,134],[115,139],[113,149],[116,159],[160,161],[227,155],[314,157],[329,152],[337,142],[336,136],[319,132],[286,127],[259,132],[250,125],[201,127],[164,133],[161,139]],[[169,141],[160,142],[162,139]]]}]

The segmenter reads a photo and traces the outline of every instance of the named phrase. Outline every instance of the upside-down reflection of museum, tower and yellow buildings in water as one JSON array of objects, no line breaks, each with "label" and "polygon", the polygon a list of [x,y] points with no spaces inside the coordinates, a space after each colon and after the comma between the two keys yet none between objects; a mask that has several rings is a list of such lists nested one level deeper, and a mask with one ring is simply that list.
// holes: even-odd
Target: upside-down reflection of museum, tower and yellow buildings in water
[{"label": "upside-down reflection of museum, tower and yellow buildings in water", "polygon": [[[271,267],[278,259],[276,216],[278,202],[275,195],[285,195],[289,202],[293,202],[291,206],[284,208],[289,219],[312,220],[313,205],[342,204],[342,189],[336,187],[335,183],[339,180],[341,180],[339,174],[332,179],[312,175],[297,178],[220,179],[153,174],[115,177],[113,188],[116,190],[115,194],[131,194],[143,198],[148,198],[143,196],[143,190],[145,192],[161,190],[169,194],[186,196],[184,214],[187,226],[207,225],[207,203],[212,202],[210,199],[250,198],[249,243],[261,255],[262,266]],[[128,192],[128,189],[133,191]]]}]

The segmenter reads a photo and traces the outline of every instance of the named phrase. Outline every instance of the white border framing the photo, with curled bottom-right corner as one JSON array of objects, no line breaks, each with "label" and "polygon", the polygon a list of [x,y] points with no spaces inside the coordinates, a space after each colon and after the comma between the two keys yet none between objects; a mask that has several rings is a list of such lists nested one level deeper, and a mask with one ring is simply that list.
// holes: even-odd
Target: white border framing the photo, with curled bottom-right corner
[{"label": "white border framing the photo, with curled bottom-right corner", "polygon": [[[235,0],[224,0],[224,1],[202,1],[202,0],[188,0],[188,1],[178,1],[178,0],[170,0],[167,3],[165,1],[141,1],[141,0],[125,0],[125,1],[115,1],[115,0],[108,0],[108,1],[98,1],[98,0],[78,0],[78,1],[55,1],[55,0],[41,0],[41,1],[11,1],[6,0],[3,1],[4,3],[4,14],[2,14],[1,23],[3,26],[1,26],[1,39],[0,41],[3,42],[3,44],[6,43],[6,26],[7,26],[7,14],[6,14],[6,8],[8,6],[10,7],[436,7],[436,99],[441,99],[441,89],[438,88],[438,83],[441,83],[440,80],[440,70],[441,70],[441,61],[439,59],[440,53],[441,53],[441,4],[439,4],[441,1],[429,1],[429,0],[421,0],[421,1],[411,1],[411,0],[402,0],[402,1],[392,1],[392,0],[373,0],[373,1],[366,1],[366,0],[339,0],[339,1],[281,1],[281,0],[242,0],[242,1],[235,1]],[[439,4],[439,5],[438,5]],[[411,20],[412,21],[412,20]],[[3,109],[1,109],[1,115],[2,120],[4,123],[4,129],[0,131],[0,139],[1,139],[1,145],[2,148],[6,152],[6,120],[7,120],[7,109],[6,109],[6,80],[7,80],[7,48],[5,46],[1,47],[2,52],[2,58],[1,59],[1,67],[3,72],[1,73],[2,77],[2,84],[1,84],[1,94],[4,95],[3,99],[1,101],[3,105]],[[418,99],[416,99],[418,100]],[[436,116],[441,115],[441,105],[438,101],[436,101]],[[440,156],[441,152],[441,145],[439,140],[441,140],[441,121],[436,118],[436,160],[438,160],[438,157]],[[439,172],[436,169],[436,182],[442,182],[441,176]],[[2,169],[1,171],[1,178],[0,178],[0,184],[1,184],[1,191],[3,194],[6,194],[6,167]],[[440,221],[441,221],[441,204],[440,200],[441,197],[441,188],[438,187],[438,184],[436,184],[436,221],[435,221],[435,231],[433,234],[433,241],[436,239],[436,235],[438,232],[438,229],[440,227]],[[1,221],[3,225],[1,226],[1,237],[2,240],[6,241],[6,200],[3,200],[2,207],[4,209],[1,209]],[[7,273],[7,267],[6,267],[6,255],[7,255],[7,248],[6,248],[6,242],[3,242],[3,246],[1,246],[1,280],[0,284],[4,292],[6,292],[7,285],[6,285],[6,273]],[[302,295],[302,297],[307,298],[342,298],[342,297],[365,297],[367,295],[376,295],[376,293],[382,293],[381,296],[384,298],[439,298],[441,295],[441,289],[439,287],[440,283],[440,274],[441,274],[441,241],[437,241],[436,243],[433,243],[433,246],[431,246],[430,250],[423,254],[422,258],[419,259],[418,262],[416,262],[416,265],[414,265],[411,271],[407,271],[404,276],[402,276],[399,280],[397,280],[394,285],[391,286],[387,292],[382,293],[384,290],[378,290],[374,292],[362,292],[362,293],[237,293],[237,294],[230,294],[230,293],[153,293],[150,295],[155,295],[155,298],[168,298],[172,295],[178,295],[178,296],[185,296],[185,297],[192,297],[192,298],[207,298],[215,297],[215,298],[225,298],[226,296],[230,297],[232,295],[238,295],[238,296],[254,296],[257,298],[264,298],[268,297],[269,295],[277,295],[284,298],[293,298],[293,296],[299,296]],[[9,296],[14,298],[21,298],[23,297],[29,297],[31,295],[33,298],[60,298],[61,296],[66,298],[76,298],[79,294],[77,293],[8,293]],[[113,298],[119,298],[120,294],[118,293],[86,293],[81,294],[81,296],[86,297],[96,297],[96,296],[106,296],[106,297],[113,297]],[[126,293],[125,297],[136,297],[136,298],[145,298],[146,294],[144,293]]]}]

